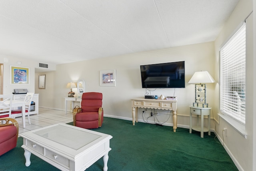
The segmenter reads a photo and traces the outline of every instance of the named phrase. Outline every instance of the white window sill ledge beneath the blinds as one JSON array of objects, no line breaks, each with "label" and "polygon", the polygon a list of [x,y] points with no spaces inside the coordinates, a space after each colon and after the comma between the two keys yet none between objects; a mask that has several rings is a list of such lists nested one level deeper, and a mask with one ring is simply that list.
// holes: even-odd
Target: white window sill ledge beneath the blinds
[{"label": "white window sill ledge beneath the blinds", "polygon": [[232,119],[231,117],[224,115],[224,114],[220,114],[218,113],[218,115],[224,119],[224,121],[226,121],[231,127],[233,127],[238,133],[240,133],[245,139],[247,139],[247,132],[245,130],[245,126],[242,125],[241,123],[235,121],[234,119]]}]

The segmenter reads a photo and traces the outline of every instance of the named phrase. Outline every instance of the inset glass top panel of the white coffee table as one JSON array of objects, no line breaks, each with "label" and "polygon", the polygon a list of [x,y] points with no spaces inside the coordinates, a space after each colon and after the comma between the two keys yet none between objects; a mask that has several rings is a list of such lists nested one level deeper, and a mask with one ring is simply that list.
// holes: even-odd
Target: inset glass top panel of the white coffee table
[{"label": "inset glass top panel of the white coffee table", "polygon": [[45,129],[34,131],[33,133],[75,150],[80,149],[81,147],[102,137],[101,135],[73,129],[71,127],[66,127],[63,125],[48,127]]}]

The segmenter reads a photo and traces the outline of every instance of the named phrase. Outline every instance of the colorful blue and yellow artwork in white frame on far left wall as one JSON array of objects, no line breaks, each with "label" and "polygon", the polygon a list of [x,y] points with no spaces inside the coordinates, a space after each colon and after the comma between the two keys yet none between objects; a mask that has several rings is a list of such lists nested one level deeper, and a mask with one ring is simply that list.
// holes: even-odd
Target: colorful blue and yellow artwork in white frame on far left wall
[{"label": "colorful blue and yellow artwork in white frame on far left wall", "polygon": [[11,84],[29,84],[29,68],[10,66]]}]

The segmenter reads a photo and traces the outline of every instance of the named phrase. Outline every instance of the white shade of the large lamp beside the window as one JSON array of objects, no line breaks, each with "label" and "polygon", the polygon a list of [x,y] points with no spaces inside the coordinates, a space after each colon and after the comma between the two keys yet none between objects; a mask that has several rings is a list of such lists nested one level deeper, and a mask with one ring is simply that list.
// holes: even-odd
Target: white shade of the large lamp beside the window
[{"label": "white shade of the large lamp beside the window", "polygon": [[215,80],[207,71],[195,72],[188,83],[214,83]]}]

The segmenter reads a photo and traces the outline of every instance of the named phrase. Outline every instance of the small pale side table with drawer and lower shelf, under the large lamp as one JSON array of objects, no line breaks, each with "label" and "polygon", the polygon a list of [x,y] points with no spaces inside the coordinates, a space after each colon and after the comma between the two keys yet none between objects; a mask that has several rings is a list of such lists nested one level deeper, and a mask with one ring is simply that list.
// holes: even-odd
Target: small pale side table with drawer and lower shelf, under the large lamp
[{"label": "small pale side table with drawer and lower shelf, under the large lamp", "polygon": [[[189,133],[192,133],[192,129],[195,131],[201,132],[201,138],[204,137],[204,132],[210,133],[210,111],[212,107],[195,107],[190,105],[190,124],[189,124]],[[196,115],[196,125],[192,126],[192,114]],[[199,115],[201,115],[201,125],[199,125]],[[204,127],[204,115],[208,115],[208,128]]]}]

